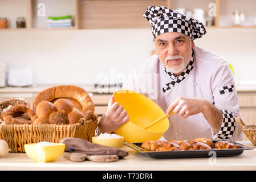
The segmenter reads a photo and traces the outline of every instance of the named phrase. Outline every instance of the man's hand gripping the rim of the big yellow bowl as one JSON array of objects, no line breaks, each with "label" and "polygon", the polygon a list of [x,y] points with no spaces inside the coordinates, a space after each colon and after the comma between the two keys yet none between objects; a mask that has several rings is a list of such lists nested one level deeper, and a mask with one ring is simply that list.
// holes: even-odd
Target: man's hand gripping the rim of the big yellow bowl
[{"label": "man's hand gripping the rim of the big yellow bowl", "polygon": [[111,97],[111,100],[108,102],[107,111],[100,118],[98,129],[100,133],[112,133],[127,121],[129,121],[127,111]]}]

